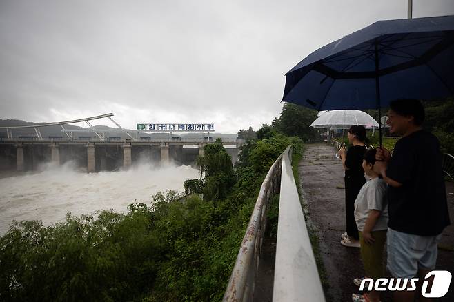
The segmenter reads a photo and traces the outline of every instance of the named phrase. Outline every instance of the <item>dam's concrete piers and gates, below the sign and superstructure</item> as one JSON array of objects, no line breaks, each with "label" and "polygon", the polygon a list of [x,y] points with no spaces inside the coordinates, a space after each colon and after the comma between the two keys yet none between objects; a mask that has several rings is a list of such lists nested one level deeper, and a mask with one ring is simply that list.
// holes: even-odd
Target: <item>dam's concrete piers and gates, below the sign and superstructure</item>
[{"label": "dam's concrete piers and gates, below the sign and superstructure", "polygon": [[[159,165],[194,165],[197,156],[203,156],[207,143],[150,139],[0,139],[0,171],[33,171],[42,163],[60,165],[68,161],[75,161],[77,167],[85,167],[87,172],[115,171],[141,160]],[[223,142],[223,145],[235,163],[241,143]]]}]

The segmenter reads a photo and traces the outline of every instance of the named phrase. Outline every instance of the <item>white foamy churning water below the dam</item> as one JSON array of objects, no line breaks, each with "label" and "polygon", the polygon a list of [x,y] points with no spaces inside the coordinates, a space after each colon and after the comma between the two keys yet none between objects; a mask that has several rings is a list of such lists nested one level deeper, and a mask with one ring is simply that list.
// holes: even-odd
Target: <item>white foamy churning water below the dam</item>
[{"label": "white foamy churning water below the dam", "polygon": [[0,179],[0,236],[12,220],[42,220],[50,225],[73,215],[113,209],[127,212],[128,204],[144,202],[166,190],[183,190],[186,179],[197,178],[190,166],[155,168],[141,164],[119,172],[86,173],[71,163],[46,165],[42,172]]}]

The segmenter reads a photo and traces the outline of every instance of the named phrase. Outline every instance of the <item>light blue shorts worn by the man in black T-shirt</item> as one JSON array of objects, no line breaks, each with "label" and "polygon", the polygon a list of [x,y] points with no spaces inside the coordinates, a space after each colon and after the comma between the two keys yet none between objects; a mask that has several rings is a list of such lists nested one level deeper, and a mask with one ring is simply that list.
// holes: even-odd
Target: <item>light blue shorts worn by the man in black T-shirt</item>
[{"label": "light blue shorts worn by the man in black T-shirt", "polygon": [[388,228],[388,271],[395,278],[413,278],[420,269],[435,269],[441,236],[418,236]]}]

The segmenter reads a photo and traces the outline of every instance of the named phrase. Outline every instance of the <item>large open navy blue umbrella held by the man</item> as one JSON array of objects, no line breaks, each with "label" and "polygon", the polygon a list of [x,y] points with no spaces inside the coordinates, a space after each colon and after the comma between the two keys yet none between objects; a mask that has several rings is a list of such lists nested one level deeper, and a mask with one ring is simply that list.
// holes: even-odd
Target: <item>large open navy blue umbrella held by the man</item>
[{"label": "large open navy blue umbrella held by the man", "polygon": [[453,94],[454,16],[446,16],[378,21],[315,50],[287,72],[282,101],[380,110],[393,99]]}]

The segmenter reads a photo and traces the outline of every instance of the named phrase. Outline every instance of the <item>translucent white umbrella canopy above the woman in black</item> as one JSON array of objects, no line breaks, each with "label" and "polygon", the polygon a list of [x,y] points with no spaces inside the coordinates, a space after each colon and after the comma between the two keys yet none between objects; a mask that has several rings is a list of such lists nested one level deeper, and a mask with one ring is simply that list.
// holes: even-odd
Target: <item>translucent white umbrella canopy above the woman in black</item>
[{"label": "translucent white umbrella canopy above the woman in black", "polygon": [[359,110],[331,110],[320,115],[310,127],[325,129],[348,129],[351,125],[378,128],[378,123],[369,114]]}]

